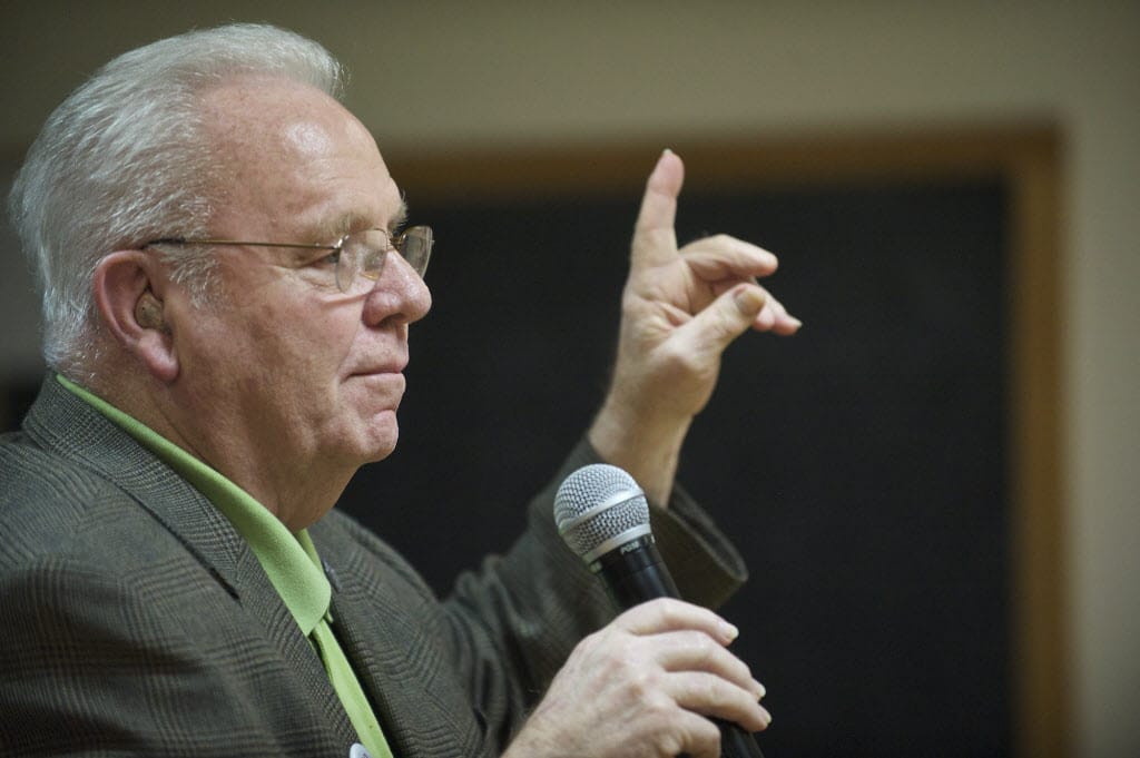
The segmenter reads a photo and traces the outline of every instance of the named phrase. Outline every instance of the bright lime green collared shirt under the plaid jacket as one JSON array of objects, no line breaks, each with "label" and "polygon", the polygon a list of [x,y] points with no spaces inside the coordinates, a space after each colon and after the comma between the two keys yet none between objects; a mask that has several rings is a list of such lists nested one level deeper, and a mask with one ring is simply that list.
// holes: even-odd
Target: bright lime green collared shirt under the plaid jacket
[{"label": "bright lime green collared shirt under the plaid jacket", "polygon": [[328,660],[325,660],[325,668],[329,673],[333,687],[365,748],[376,757],[391,756],[381,733],[380,723],[368,706],[367,698],[364,695],[359,682],[356,680],[356,675],[351,671],[348,660],[340,651],[339,643],[327,631],[328,627],[323,626],[321,629],[317,630],[320,634],[317,637],[314,636],[314,630],[323,619],[332,621],[329,612],[332,588],[328,584],[328,577],[321,569],[317,548],[314,546],[312,539],[309,538],[308,531],[302,529],[294,536],[268,508],[220,472],[195,458],[138,419],[92,394],[89,390],[62,375],[57,374],[56,378],[178,472],[182,479],[205,495],[214,507],[229,519],[238,533],[250,544],[250,548],[261,563],[261,568],[264,569],[269,581],[277,589],[277,594],[280,595],[285,608],[296,620],[301,633],[310,642],[319,639],[324,641],[324,644],[337,646],[336,655],[342,665],[349,667],[348,676],[352,679],[349,686],[355,690],[356,696],[353,693],[344,691],[341,685],[343,675],[339,676],[339,673],[332,670]]}]

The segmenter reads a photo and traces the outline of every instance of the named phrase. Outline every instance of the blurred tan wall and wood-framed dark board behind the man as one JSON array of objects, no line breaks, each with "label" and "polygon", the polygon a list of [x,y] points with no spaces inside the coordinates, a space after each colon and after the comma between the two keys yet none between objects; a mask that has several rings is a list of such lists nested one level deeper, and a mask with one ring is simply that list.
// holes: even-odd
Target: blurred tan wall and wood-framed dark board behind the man
[{"label": "blurred tan wall and wood-framed dark board behind the man", "polygon": [[[439,592],[588,424],[668,146],[682,239],[780,253],[806,325],[734,345],[682,464],[752,569],[768,757],[1140,755],[1140,3],[9,0],[6,194],[96,67],[229,21],[337,55],[437,228],[400,448],[343,507]],[[7,223],[0,318],[11,429]]]}]

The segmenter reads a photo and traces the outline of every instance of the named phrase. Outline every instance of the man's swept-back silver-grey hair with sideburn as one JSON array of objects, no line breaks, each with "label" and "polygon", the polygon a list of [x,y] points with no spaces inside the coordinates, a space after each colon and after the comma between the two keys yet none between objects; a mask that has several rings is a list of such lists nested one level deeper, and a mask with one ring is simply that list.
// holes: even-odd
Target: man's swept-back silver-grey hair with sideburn
[{"label": "man's swept-back silver-grey hair with sideburn", "polygon": [[[89,364],[99,260],[163,237],[203,237],[222,166],[198,93],[243,74],[272,75],[340,98],[344,74],[319,43],[282,28],[193,31],[106,64],[52,112],[28,149],[9,211],[42,294],[43,357],[74,374]],[[173,276],[199,300],[213,258],[168,247]]]}]

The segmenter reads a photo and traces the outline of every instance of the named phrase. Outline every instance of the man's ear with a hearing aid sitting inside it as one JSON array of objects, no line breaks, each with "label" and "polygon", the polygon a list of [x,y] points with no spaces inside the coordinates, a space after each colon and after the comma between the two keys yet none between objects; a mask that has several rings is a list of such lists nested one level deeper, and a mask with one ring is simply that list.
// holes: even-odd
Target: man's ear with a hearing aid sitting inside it
[{"label": "man's ear with a hearing aid sitting inside it", "polygon": [[111,335],[152,376],[169,383],[179,366],[161,296],[165,283],[154,258],[139,250],[104,256],[92,282],[96,308]]}]

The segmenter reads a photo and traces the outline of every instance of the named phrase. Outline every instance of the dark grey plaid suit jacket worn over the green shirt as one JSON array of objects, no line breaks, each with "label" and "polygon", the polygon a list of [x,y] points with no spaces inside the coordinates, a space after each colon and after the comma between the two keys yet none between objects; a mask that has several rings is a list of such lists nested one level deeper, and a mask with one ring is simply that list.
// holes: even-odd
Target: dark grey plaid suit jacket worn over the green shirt
[{"label": "dark grey plaid suit jacket worn over the green shirt", "polygon": [[[523,536],[440,601],[335,511],[310,529],[335,631],[398,758],[494,756],[610,605],[561,544],[553,488]],[[739,556],[683,494],[654,530],[686,597]],[[356,733],[249,545],[197,490],[52,377],[0,441],[0,755],[348,756]]]}]

